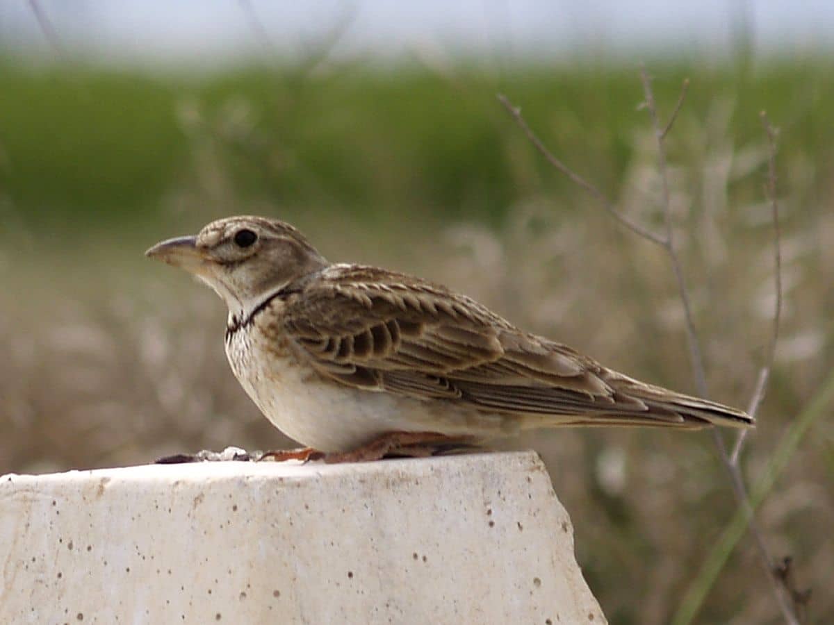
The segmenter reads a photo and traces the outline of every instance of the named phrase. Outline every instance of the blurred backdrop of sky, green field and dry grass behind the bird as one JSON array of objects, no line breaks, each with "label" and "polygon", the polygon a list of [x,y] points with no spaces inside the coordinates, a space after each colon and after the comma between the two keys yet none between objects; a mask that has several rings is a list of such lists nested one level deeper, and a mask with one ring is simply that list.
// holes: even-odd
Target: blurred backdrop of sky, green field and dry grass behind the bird
[{"label": "blurred backdrop of sky, green field and dry grass behind the bird", "polygon": [[[834,4],[715,0],[0,3],[0,473],[289,444],[232,377],[225,310],[151,263],[159,239],[256,213],[328,258],[419,274],[638,378],[693,392],[660,248],[535,152],[660,229],[639,64],[711,397],[745,407],[774,305],[766,135],[785,300],[754,481],[834,364]],[[732,442],[732,437],[726,437]],[[563,430],[538,450],[612,623],[664,623],[736,510],[704,433]],[[834,621],[834,422],[811,426],[758,515]],[[748,539],[698,622],[781,622]]]}]

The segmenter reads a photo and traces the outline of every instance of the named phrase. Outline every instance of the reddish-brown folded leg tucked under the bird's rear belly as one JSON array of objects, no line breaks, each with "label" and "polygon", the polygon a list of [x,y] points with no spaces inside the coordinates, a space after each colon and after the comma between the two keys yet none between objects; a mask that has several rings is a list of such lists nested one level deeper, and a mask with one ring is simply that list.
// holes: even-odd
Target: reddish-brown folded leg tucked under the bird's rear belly
[{"label": "reddish-brown folded leg tucked under the bird's rear belly", "polygon": [[447,436],[436,432],[389,432],[360,448],[343,453],[325,453],[325,463],[366,463],[387,456],[425,458],[475,447],[468,436]]}]

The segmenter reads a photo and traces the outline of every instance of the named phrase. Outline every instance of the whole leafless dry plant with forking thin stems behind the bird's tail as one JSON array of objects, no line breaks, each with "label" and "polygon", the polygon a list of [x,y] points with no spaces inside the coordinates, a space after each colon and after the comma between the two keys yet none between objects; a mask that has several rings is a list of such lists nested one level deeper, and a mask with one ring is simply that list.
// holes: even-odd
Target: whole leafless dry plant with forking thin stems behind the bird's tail
[{"label": "whole leafless dry plant with forking thin stems behind the bird's tail", "polygon": [[[664,139],[666,138],[666,135],[671,131],[671,128],[674,125],[674,122],[678,116],[678,113],[681,111],[683,102],[686,99],[686,92],[689,87],[689,80],[687,79],[683,82],[683,85],[681,87],[681,94],[678,97],[676,106],[671,114],[671,117],[669,118],[669,121],[666,122],[665,125],[661,126],[660,117],[657,112],[654,92],[651,88],[651,79],[646,73],[646,69],[643,67],[641,67],[640,76],[643,85],[643,92],[646,97],[646,108],[651,117],[651,124],[656,138],[658,171],[660,173],[661,178],[661,204],[666,225],[665,233],[663,236],[658,235],[656,233],[652,233],[650,230],[647,230],[646,228],[641,226],[641,224],[635,223],[631,219],[626,218],[615,208],[614,204],[611,203],[610,200],[608,200],[608,198],[605,197],[605,194],[600,192],[598,188],[596,188],[593,184],[586,181],[585,178],[580,177],[579,174],[575,173],[573,170],[568,168],[565,165],[565,163],[562,163],[560,159],[556,158],[553,153],[550,153],[550,150],[532,131],[530,126],[528,126],[527,122],[525,122],[524,117],[521,116],[519,107],[513,106],[510,100],[504,95],[499,95],[498,99],[501,102],[501,104],[504,105],[507,111],[510,112],[510,115],[515,119],[515,122],[524,131],[527,138],[530,139],[530,142],[533,143],[535,148],[547,159],[547,161],[551,165],[553,165],[554,168],[560,171],[560,173],[563,173],[567,178],[569,178],[580,188],[583,188],[587,193],[590,193],[590,195],[594,196],[597,200],[599,200],[608,213],[610,213],[617,221],[625,225],[625,227],[629,228],[633,233],[636,233],[637,235],[641,236],[642,238],[645,238],[648,241],[651,241],[652,243],[660,245],[661,248],[664,248],[666,250],[666,253],[668,253],[669,255],[672,271],[673,273],[675,273],[678,293],[681,298],[681,304],[684,309],[684,316],[686,321],[686,340],[689,346],[690,363],[693,372],[693,377],[695,378],[696,389],[698,393],[706,397],[709,393],[706,385],[704,360],[701,354],[701,347],[698,340],[698,334],[696,331],[694,318],[692,315],[689,289],[686,286],[686,278],[684,276],[681,260],[678,256],[675,245],[674,218],[671,210],[671,193],[669,189],[669,179],[666,168],[666,147],[664,145]],[[756,390],[753,395],[753,400],[751,401],[751,406],[754,408],[754,412],[751,413],[751,415],[755,414],[755,410],[761,403],[761,398],[764,397],[766,384],[772,364],[773,353],[776,349],[776,338],[778,336],[779,317],[781,313],[781,242],[779,238],[778,210],[776,207],[776,165],[774,145],[775,141],[773,129],[771,128],[770,124],[766,122],[766,117],[763,117],[763,120],[766,124],[766,131],[768,133],[768,138],[771,146],[770,174],[768,178],[768,195],[771,198],[774,228],[776,232],[774,244],[776,248],[777,303],[776,314],[774,319],[774,332],[771,337],[771,347],[768,354],[768,358],[766,360],[765,368],[763,368],[763,372],[766,373],[762,373],[759,377],[758,383],[756,383]],[[794,611],[794,608],[791,606],[790,597],[787,597],[788,593],[786,592],[786,588],[780,582],[780,579],[777,577],[776,568],[774,567],[774,559],[773,557],[771,557],[771,554],[767,549],[766,542],[761,532],[761,528],[758,526],[755,518],[753,517],[755,506],[751,505],[751,500],[747,493],[744,479],[741,476],[741,469],[738,466],[737,458],[732,458],[730,453],[728,453],[726,444],[724,443],[724,439],[721,437],[721,434],[718,433],[716,430],[713,430],[712,433],[713,439],[716,444],[716,448],[718,449],[719,455],[721,457],[721,462],[724,464],[727,473],[730,476],[730,483],[733,489],[733,493],[735,493],[736,499],[739,502],[739,511],[736,513],[736,517],[741,518],[741,532],[743,533],[743,530],[749,527],[751,534],[754,538],[754,542],[756,543],[756,550],[759,554],[762,565],[766,568],[767,577],[771,582],[774,597],[776,598],[776,602],[781,610],[782,617],[784,617],[785,622],[789,623],[789,625],[798,625],[799,621],[796,617],[796,612]],[[736,448],[739,448],[739,451],[741,450],[742,443],[743,438],[736,443]],[[766,493],[763,493],[761,495],[761,498],[763,498],[765,494]],[[756,501],[756,505],[758,503],[759,501]],[[732,546],[734,545],[735,542],[732,543]],[[728,555],[729,554],[726,554],[726,557],[728,557]],[[718,570],[720,570],[720,568]],[[717,572],[715,572],[715,574],[717,575]],[[689,614],[691,614],[691,617],[694,617],[694,614],[697,611],[697,608],[700,607],[704,597],[706,597],[706,589],[700,595],[699,601],[696,602],[694,607],[691,609],[691,612],[688,612]],[[679,620],[676,622],[689,622],[689,620],[686,620],[685,618],[684,620]]]}]

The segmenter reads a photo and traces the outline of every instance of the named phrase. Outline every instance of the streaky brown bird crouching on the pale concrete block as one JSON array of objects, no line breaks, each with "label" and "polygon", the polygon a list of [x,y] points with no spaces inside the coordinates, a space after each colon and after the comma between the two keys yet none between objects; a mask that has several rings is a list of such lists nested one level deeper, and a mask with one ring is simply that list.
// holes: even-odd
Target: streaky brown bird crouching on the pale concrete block
[{"label": "streaky brown bird crouching on the pale concrete block", "polygon": [[742,410],[516,328],[441,284],[330,263],[279,219],[219,219],[146,255],[226,303],[234,376],[303,446],[270,452],[276,460],[427,456],[534,428],[754,425]]}]

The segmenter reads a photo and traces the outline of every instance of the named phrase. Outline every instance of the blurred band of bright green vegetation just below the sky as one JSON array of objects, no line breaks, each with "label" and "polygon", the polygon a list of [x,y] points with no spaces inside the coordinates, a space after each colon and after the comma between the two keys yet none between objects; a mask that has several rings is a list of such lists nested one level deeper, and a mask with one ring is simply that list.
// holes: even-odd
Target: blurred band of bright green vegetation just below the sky
[{"label": "blurred band of bright green vegetation just below the sky", "polygon": [[[779,120],[781,150],[831,161],[834,72],[824,58],[762,67],[652,67],[657,97],[686,110],[734,101],[736,138],[760,133],[757,113]],[[633,152],[641,102],[636,67],[478,67],[433,72],[344,64],[241,68],[164,77],[91,67],[26,68],[0,61],[0,184],[26,223],[84,225],[163,217],[160,198],[188,176],[195,127],[224,144],[234,192],[291,210],[311,199],[366,221],[392,211],[504,223],[520,193],[569,185],[541,159],[520,169],[505,149],[516,131],[495,102],[505,92],[578,171],[614,188]],[[508,138],[508,135],[510,137]],[[816,181],[818,184],[824,181]],[[809,189],[811,190],[811,189]]]}]

